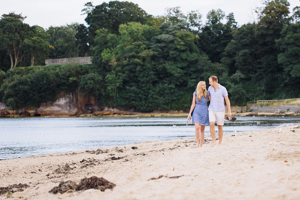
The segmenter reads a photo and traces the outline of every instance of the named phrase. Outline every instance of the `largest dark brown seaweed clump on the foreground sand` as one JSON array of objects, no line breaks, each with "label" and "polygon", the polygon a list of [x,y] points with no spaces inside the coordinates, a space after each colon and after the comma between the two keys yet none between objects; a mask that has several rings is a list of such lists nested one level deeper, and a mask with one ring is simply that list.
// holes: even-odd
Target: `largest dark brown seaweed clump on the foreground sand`
[{"label": "largest dark brown seaweed clump on the foreground sand", "polygon": [[51,189],[49,193],[57,194],[59,192],[62,194],[65,192],[75,192],[86,189],[100,189],[103,192],[105,189],[113,189],[114,186],[116,186],[114,183],[109,182],[105,178],[92,176],[90,178],[81,179],[78,185],[71,180],[66,182],[62,181],[58,186],[55,186],[53,189]]}]

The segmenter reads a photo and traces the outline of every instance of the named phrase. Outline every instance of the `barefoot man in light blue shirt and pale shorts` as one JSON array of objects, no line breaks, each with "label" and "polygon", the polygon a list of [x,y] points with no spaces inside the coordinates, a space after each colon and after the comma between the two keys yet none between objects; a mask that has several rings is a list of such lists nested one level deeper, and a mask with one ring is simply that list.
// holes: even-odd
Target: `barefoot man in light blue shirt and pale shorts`
[{"label": "barefoot man in light blue shirt and pale shorts", "polygon": [[208,107],[209,115],[209,126],[210,134],[212,136],[212,146],[216,145],[216,130],[215,130],[215,121],[217,120],[218,125],[218,135],[219,135],[219,145],[222,144],[223,138],[223,125],[224,125],[224,115],[225,115],[225,106],[224,98],[226,105],[228,107],[228,116],[231,117],[230,102],[228,98],[227,89],[218,83],[218,78],[216,76],[209,77],[208,91],[210,93],[210,104]]}]

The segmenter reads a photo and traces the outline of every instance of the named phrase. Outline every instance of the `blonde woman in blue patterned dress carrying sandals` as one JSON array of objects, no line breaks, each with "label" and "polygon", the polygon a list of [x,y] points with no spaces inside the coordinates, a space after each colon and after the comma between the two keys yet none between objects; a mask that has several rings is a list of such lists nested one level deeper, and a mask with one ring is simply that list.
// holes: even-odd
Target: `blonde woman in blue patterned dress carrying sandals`
[{"label": "blonde woman in blue patterned dress carrying sandals", "polygon": [[205,126],[209,125],[208,107],[207,107],[207,101],[209,100],[210,100],[210,94],[206,90],[205,81],[200,81],[197,85],[197,89],[193,94],[193,103],[191,106],[190,114],[187,117],[187,119],[190,119],[191,113],[194,111],[192,123],[195,124],[195,135],[197,141],[197,145],[195,147],[199,147],[199,137],[200,137],[200,146],[202,146],[204,141],[204,129]]}]

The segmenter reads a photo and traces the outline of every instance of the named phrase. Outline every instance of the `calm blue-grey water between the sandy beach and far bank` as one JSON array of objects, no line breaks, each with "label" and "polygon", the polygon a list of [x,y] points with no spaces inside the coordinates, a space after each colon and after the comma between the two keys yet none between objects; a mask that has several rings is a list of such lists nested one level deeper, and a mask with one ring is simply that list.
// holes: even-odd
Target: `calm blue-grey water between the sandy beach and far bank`
[{"label": "calm blue-grey water between the sandy beach and far bank", "polygon": [[[238,117],[225,120],[223,129],[228,134],[299,123],[300,117]],[[186,117],[1,118],[0,159],[195,137],[194,125],[185,124]]]}]

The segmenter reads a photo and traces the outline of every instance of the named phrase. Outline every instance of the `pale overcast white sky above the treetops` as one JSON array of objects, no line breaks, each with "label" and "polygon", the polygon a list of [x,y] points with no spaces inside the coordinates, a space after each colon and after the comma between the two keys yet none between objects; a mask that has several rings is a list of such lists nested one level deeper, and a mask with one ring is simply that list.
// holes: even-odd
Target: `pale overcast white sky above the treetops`
[{"label": "pale overcast white sky above the treetops", "polygon": [[[43,28],[60,26],[78,22],[86,24],[86,15],[81,15],[84,4],[90,0],[0,0],[0,14],[8,14],[15,11],[27,16],[25,23],[39,25]],[[93,5],[99,5],[103,0],[94,0]],[[109,1],[105,1],[109,2]],[[261,7],[261,0],[132,0],[150,15],[163,15],[167,7],[181,7],[183,13],[198,10],[202,14],[205,23],[208,11],[222,9],[225,14],[234,13],[239,25],[253,22],[253,14],[256,7]],[[300,6],[299,0],[289,0],[290,12],[296,6]]]}]

